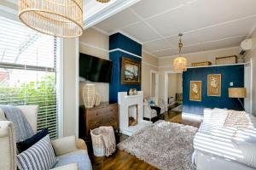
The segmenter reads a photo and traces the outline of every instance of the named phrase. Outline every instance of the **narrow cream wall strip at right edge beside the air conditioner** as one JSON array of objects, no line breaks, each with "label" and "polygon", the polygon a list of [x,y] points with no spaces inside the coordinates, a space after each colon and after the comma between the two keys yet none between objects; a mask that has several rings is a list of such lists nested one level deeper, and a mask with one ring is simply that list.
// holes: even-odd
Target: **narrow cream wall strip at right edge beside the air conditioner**
[{"label": "narrow cream wall strip at right edge beside the air conditioner", "polygon": [[256,116],[256,29],[253,31],[253,49],[246,55],[246,61],[252,59],[253,63],[253,115]]}]

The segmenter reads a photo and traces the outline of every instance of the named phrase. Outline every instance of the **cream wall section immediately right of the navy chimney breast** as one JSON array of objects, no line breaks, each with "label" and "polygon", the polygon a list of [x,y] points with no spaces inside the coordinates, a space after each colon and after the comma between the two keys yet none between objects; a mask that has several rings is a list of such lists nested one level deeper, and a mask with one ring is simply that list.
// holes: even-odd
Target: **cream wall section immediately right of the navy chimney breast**
[{"label": "cream wall section immediately right of the navy chimney breast", "polygon": [[142,62],[142,90],[144,98],[150,97],[150,71],[158,71],[158,59],[143,52]]}]

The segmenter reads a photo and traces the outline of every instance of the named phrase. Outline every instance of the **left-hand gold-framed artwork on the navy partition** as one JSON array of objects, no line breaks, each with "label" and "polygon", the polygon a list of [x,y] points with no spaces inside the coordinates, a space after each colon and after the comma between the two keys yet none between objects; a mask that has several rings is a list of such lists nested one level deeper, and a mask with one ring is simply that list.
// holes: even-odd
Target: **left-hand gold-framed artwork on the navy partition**
[{"label": "left-hand gold-framed artwork on the navy partition", "polygon": [[201,81],[190,81],[189,100],[201,101]]}]

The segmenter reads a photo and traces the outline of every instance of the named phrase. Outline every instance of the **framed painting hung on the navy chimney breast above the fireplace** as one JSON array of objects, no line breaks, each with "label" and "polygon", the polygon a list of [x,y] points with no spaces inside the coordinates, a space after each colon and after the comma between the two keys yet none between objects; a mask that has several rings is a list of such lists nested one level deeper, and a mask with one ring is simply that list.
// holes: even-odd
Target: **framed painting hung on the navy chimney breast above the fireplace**
[{"label": "framed painting hung on the navy chimney breast above the fireplace", "polygon": [[141,84],[141,63],[123,57],[122,59],[122,84]]}]

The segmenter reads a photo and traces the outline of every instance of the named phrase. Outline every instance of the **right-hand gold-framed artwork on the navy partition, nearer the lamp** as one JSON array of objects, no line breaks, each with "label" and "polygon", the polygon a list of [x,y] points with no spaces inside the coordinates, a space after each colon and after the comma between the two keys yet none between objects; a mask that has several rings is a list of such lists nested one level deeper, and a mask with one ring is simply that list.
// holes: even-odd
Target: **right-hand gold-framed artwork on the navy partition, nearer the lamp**
[{"label": "right-hand gold-framed artwork on the navy partition, nearer the lamp", "polygon": [[207,75],[207,95],[221,96],[221,74]]}]

